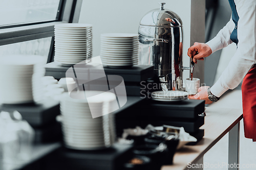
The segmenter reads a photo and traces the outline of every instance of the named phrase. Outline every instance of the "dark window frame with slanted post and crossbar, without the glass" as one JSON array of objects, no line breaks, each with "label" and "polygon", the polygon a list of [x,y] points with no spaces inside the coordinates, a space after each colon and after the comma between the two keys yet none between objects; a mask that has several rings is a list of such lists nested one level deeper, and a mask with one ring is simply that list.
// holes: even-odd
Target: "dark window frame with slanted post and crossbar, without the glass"
[{"label": "dark window frame with slanted post and crossbar, without the glass", "polygon": [[40,38],[52,37],[47,63],[54,58],[54,25],[78,23],[82,0],[60,0],[56,20],[20,23],[0,27],[0,46]]}]

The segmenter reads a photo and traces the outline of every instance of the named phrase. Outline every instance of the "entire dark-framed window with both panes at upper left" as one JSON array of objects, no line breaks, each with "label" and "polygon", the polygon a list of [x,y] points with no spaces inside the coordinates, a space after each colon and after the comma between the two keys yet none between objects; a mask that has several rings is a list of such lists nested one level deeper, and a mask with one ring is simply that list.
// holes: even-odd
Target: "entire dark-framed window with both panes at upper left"
[{"label": "entire dark-framed window with both panes at upper left", "polygon": [[35,54],[53,61],[54,25],[78,22],[82,0],[0,0],[0,56]]}]

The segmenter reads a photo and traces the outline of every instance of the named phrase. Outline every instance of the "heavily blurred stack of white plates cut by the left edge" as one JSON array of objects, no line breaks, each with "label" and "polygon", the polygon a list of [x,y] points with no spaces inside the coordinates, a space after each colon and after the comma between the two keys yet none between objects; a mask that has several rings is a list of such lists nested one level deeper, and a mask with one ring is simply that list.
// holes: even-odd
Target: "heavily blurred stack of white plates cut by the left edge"
[{"label": "heavily blurred stack of white plates cut by the left edge", "polygon": [[0,58],[0,103],[22,104],[42,99],[44,57],[13,55]]}]

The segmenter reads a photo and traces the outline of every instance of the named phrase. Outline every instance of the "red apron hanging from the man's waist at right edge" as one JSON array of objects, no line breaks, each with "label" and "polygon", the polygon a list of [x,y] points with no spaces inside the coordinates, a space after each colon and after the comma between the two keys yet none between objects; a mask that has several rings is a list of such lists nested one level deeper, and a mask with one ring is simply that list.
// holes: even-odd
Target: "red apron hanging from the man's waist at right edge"
[{"label": "red apron hanging from the man's waist at right edge", "polygon": [[242,84],[244,136],[256,141],[256,64],[244,77]]}]

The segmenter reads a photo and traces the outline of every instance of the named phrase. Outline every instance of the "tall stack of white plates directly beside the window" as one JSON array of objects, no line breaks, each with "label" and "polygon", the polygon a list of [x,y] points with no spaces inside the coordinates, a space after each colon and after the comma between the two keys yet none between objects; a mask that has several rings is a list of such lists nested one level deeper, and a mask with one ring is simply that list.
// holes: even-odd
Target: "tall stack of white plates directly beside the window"
[{"label": "tall stack of white plates directly beside the window", "polygon": [[54,26],[54,61],[64,66],[92,58],[92,25],[87,23],[59,23]]}]

